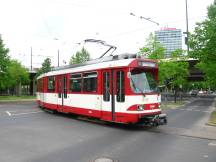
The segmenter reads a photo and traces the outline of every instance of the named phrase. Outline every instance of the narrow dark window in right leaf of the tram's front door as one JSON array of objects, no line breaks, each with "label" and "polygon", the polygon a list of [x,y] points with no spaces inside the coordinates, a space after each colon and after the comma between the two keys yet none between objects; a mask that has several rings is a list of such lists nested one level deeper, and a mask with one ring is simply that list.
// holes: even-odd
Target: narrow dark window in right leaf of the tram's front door
[{"label": "narrow dark window in right leaf of the tram's front door", "polygon": [[124,84],[124,71],[117,71],[116,73],[116,97],[117,102],[125,101],[125,84]]}]

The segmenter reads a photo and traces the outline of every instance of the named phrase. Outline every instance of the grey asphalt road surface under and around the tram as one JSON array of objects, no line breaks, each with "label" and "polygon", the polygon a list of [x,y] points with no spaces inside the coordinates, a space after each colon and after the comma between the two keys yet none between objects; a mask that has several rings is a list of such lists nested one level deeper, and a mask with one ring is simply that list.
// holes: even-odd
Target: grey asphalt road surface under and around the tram
[{"label": "grey asphalt road surface under and around the tram", "polygon": [[215,162],[216,128],[205,126],[212,103],[168,110],[168,125],[152,129],[0,103],[0,162]]}]

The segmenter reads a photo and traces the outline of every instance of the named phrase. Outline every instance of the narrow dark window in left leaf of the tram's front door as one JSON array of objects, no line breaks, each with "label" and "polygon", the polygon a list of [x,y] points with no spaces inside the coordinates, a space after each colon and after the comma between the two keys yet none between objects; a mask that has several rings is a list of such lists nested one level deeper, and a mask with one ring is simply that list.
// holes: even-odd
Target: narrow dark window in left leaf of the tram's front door
[{"label": "narrow dark window in left leaf of the tram's front door", "polygon": [[103,73],[103,100],[110,101],[110,74],[109,72]]}]

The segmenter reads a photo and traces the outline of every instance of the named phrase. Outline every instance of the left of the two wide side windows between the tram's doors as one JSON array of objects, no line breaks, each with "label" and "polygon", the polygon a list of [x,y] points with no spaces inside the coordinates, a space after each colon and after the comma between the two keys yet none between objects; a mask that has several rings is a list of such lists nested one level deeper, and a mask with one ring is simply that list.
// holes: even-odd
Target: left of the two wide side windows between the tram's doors
[{"label": "left of the two wide side windows between the tram's doors", "polygon": [[70,76],[70,90],[72,92],[81,92],[82,78],[81,74],[71,74]]}]

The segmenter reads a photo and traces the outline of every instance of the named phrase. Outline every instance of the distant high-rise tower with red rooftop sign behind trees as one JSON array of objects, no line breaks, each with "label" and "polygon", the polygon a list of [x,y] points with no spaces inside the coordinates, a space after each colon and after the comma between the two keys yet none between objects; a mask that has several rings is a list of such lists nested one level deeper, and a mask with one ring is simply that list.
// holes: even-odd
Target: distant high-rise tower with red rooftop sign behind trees
[{"label": "distant high-rise tower with red rooftop sign behind trees", "polygon": [[176,28],[161,28],[155,31],[155,36],[165,48],[165,57],[169,58],[171,53],[177,49],[182,49],[182,31]]}]

